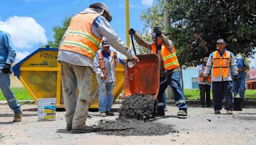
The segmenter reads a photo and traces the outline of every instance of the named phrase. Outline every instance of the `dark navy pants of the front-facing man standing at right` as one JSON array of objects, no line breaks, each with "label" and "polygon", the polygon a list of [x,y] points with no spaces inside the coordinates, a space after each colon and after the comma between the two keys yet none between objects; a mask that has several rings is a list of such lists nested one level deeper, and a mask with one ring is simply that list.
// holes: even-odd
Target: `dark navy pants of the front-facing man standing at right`
[{"label": "dark navy pants of the front-facing man standing at right", "polygon": [[220,110],[222,100],[225,97],[225,109],[233,110],[234,99],[232,97],[232,81],[212,81],[212,95],[214,110]]}]

